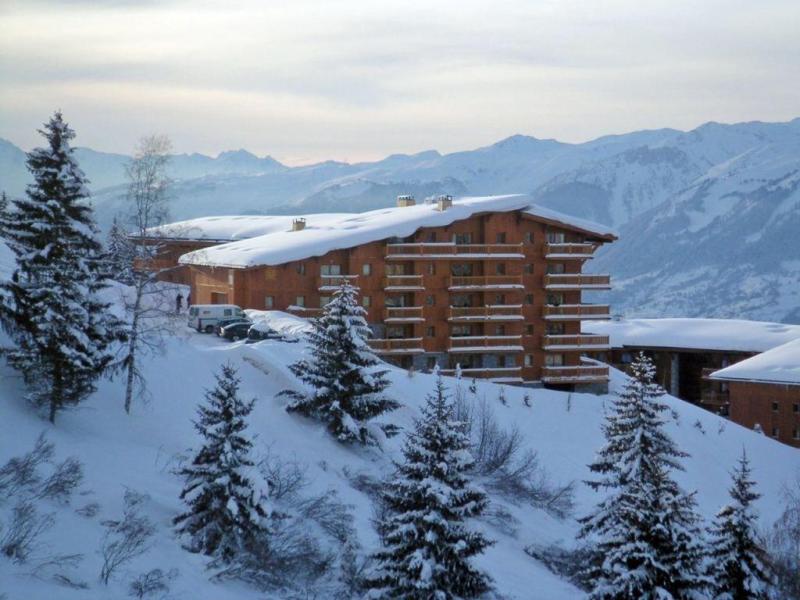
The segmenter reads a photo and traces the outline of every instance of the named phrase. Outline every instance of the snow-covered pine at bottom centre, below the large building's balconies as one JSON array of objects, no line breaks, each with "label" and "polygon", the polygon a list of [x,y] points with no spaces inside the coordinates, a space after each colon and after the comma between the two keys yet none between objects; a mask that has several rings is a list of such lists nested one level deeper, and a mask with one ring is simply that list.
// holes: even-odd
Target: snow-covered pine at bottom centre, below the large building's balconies
[{"label": "snow-covered pine at bottom centre, below the large building's balconies", "polygon": [[486,495],[470,484],[473,460],[463,424],[453,418],[441,377],[409,433],[403,461],[383,494],[382,549],[368,578],[370,598],[477,598],[491,587],[470,559],[492,542],[465,522]]}]

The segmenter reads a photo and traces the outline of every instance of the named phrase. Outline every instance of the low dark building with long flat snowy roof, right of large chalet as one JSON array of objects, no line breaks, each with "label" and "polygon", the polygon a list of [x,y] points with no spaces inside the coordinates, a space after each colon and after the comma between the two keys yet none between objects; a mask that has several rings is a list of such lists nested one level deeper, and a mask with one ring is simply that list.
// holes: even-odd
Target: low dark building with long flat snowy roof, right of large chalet
[{"label": "low dark building with long flat snowy roof, right of large chalet", "polygon": [[607,335],[610,345],[593,358],[624,371],[644,352],[667,392],[722,415],[728,414],[728,384],[711,373],[800,338],[800,325],[737,319],[619,319],[595,321],[591,329]]}]

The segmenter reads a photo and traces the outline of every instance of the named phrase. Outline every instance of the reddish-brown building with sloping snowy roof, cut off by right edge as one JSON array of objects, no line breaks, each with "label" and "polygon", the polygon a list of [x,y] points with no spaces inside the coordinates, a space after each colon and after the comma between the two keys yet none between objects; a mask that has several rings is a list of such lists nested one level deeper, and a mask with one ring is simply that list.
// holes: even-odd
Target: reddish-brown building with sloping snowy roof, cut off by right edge
[{"label": "reddish-brown building with sloping snowy roof, cut off by right edge", "polygon": [[709,375],[728,388],[732,421],[800,448],[800,339]]}]

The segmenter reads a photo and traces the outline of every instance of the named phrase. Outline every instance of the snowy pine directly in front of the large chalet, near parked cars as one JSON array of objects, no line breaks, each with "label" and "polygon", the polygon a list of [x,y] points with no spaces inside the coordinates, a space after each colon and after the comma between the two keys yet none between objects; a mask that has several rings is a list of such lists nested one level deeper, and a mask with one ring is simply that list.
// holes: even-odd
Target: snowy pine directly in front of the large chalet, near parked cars
[{"label": "snowy pine directly in front of the large chalet, near parked cars", "polygon": [[[399,406],[382,395],[389,385],[386,371],[367,344],[370,331],[366,311],[357,301],[358,290],[344,282],[313,321],[308,338],[312,358],[290,366],[310,392],[285,390],[292,401],[289,412],[299,412],[325,423],[341,442],[374,441],[367,422]],[[396,433],[381,425],[387,435]]]}]

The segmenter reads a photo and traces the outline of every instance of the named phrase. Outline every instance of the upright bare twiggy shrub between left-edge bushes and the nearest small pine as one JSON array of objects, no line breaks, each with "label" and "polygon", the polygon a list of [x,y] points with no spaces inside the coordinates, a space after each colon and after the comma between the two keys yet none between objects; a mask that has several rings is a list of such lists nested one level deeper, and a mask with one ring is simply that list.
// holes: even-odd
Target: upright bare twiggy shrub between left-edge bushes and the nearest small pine
[{"label": "upright bare twiggy shrub between left-edge bushes and the nearest small pine", "polygon": [[147,496],[125,490],[125,508],[122,518],[103,521],[106,532],[100,544],[100,581],[108,585],[111,577],[122,566],[150,549],[155,525],[139,511]]}]

